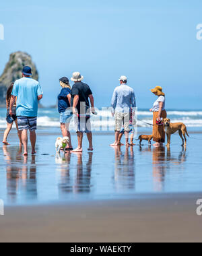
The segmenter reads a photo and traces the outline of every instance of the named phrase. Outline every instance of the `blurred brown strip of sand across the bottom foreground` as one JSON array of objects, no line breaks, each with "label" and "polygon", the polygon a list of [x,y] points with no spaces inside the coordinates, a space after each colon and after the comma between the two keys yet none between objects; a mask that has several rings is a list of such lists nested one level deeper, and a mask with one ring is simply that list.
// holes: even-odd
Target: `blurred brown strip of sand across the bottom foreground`
[{"label": "blurred brown strip of sand across the bottom foreground", "polygon": [[201,242],[201,194],[6,207],[0,242]]}]

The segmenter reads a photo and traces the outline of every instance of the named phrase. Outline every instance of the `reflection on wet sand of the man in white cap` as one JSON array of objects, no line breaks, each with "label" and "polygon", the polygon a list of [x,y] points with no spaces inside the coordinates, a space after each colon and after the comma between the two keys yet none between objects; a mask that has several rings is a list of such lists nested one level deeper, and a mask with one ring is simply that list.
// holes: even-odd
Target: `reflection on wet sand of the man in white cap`
[{"label": "reflection on wet sand of the man in white cap", "polygon": [[125,154],[121,146],[115,147],[114,183],[116,191],[135,189],[135,158],[133,147],[127,147]]}]

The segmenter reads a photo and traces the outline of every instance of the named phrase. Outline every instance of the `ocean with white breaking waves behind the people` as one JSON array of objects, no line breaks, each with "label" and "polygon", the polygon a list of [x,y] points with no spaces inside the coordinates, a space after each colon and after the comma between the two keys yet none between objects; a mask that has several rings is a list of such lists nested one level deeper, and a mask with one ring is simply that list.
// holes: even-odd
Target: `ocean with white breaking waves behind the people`
[{"label": "ocean with white breaking waves behind the people", "polygon": [[[92,131],[114,131],[114,119],[110,108],[97,109],[98,115],[92,115]],[[192,129],[202,128],[202,110],[168,110],[168,118],[172,123],[182,122]],[[0,108],[0,129],[6,127],[6,109]],[[152,123],[152,113],[146,109],[138,110],[138,127],[149,127],[142,123]],[[59,127],[59,113],[57,108],[40,108],[38,110],[38,128]],[[71,129],[74,130],[74,122],[71,121]]]}]

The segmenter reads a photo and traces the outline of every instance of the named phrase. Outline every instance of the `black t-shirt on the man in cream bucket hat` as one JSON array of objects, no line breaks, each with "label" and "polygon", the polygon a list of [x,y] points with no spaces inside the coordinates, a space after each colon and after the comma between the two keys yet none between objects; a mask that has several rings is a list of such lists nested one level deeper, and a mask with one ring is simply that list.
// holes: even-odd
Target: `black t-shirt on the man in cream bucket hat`
[{"label": "black t-shirt on the man in cream bucket hat", "polygon": [[[75,95],[79,96],[79,102],[76,107],[78,110],[78,113],[85,114],[85,111],[87,113],[88,109],[90,108],[89,95],[92,95],[92,90],[90,90],[90,87],[88,86],[88,84],[84,84],[82,82],[75,83],[71,90],[72,100]],[[73,102],[72,102],[72,106],[73,106]]]}]

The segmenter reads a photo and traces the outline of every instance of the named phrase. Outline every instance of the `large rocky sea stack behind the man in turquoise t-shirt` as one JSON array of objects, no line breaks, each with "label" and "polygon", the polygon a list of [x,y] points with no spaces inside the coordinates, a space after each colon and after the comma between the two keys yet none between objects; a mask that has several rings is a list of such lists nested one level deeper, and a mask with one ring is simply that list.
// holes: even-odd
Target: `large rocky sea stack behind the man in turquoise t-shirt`
[{"label": "large rocky sea stack behind the man in turquoise t-shirt", "polygon": [[22,77],[22,68],[24,66],[32,67],[32,78],[38,80],[38,71],[28,53],[11,53],[9,62],[6,64],[3,74],[0,77],[0,106],[5,106],[5,95],[7,88],[12,82]]}]

